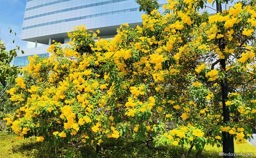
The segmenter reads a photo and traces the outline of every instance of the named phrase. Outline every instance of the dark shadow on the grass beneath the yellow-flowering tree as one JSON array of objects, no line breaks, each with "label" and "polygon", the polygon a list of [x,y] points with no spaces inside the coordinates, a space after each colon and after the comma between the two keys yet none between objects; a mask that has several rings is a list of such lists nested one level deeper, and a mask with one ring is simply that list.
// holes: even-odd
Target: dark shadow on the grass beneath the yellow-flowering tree
[{"label": "dark shadow on the grass beneath the yellow-flowering tree", "polygon": [[[13,152],[19,152],[29,158],[185,158],[188,148],[182,150],[176,146],[153,147],[139,141],[110,139],[100,145],[99,153],[96,147],[83,144],[76,146],[51,144],[49,142],[26,141],[13,146]],[[192,150],[190,158],[194,158],[196,151]],[[201,158],[218,158],[219,153],[214,150],[204,150]]]}]

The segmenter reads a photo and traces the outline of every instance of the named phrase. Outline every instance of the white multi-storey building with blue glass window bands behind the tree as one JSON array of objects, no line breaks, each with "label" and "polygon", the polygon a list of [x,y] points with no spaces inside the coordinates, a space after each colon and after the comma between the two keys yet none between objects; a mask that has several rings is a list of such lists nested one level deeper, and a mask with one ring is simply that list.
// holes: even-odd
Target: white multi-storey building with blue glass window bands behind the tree
[{"label": "white multi-storey building with blue glass window bands behind the tree", "polygon": [[[110,38],[123,23],[130,27],[140,25],[142,14],[134,0],[27,0],[21,40],[35,42],[35,48],[25,49],[25,54],[19,54],[14,63],[26,65],[26,61],[22,62],[25,56],[46,54],[52,40],[67,43],[67,32],[75,26],[84,24],[89,30],[99,29],[100,37]],[[46,46],[37,48],[37,43]]]}]

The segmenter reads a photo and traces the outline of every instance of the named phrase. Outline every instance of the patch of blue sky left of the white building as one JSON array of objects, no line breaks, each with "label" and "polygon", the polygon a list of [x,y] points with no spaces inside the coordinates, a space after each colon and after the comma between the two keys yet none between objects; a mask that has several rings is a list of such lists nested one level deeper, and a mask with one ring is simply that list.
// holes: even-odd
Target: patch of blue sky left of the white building
[{"label": "patch of blue sky left of the white building", "polygon": [[[7,50],[14,49],[16,45],[21,49],[26,48],[27,42],[20,40],[25,6],[26,0],[0,0],[0,38],[6,43]],[[17,33],[16,36],[11,34],[9,38],[9,27]],[[13,39],[15,39],[14,44]]]}]

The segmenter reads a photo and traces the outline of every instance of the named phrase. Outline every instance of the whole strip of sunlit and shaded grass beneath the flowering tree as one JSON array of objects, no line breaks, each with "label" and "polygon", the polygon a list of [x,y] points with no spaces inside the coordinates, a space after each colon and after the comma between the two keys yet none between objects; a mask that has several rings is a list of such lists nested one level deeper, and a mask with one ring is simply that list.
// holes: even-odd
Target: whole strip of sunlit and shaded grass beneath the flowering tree
[{"label": "whole strip of sunlit and shaded grass beneath the flowering tree", "polygon": [[[36,142],[35,137],[15,140],[15,135],[7,132],[0,132],[0,144],[0,158],[184,158],[181,147],[160,146],[154,148],[143,142],[121,139],[110,139],[104,142],[103,150],[97,154],[95,147],[81,144],[76,147],[58,144],[57,147],[54,147],[47,142]],[[185,148],[186,151],[188,148]],[[201,158],[221,158],[219,152],[222,152],[222,147],[206,145]],[[256,147],[247,142],[246,144],[235,144],[235,153],[241,152],[253,153],[253,158],[256,158]],[[195,155],[196,151],[192,150],[191,158],[194,158]],[[245,158],[245,156],[236,156],[236,158]]]}]

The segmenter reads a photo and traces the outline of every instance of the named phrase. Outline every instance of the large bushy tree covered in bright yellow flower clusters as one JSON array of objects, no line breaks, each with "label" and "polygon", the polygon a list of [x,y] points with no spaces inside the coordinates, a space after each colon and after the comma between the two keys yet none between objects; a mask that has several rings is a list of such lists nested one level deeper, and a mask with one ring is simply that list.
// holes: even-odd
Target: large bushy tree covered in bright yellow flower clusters
[{"label": "large bushy tree covered in bright yellow flower clusters", "polygon": [[[7,124],[17,138],[36,134],[38,141],[100,144],[132,136],[201,151],[220,146],[225,131],[245,142],[256,117],[255,2],[209,17],[198,13],[204,3],[168,0],[164,14],[143,15],[142,27],[123,24],[111,40],[95,41],[99,31],[76,27],[70,46],[55,43],[50,58],[30,57],[8,91],[21,108]],[[224,123],[225,78],[230,121]]]}]

